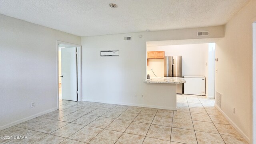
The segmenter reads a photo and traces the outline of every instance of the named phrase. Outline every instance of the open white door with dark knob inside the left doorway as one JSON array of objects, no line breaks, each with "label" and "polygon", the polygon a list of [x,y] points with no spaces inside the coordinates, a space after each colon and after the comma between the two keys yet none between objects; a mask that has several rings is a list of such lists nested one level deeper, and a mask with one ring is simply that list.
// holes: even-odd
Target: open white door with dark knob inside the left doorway
[{"label": "open white door with dark knob inside the left doorway", "polygon": [[76,47],[61,49],[62,100],[77,101]]}]

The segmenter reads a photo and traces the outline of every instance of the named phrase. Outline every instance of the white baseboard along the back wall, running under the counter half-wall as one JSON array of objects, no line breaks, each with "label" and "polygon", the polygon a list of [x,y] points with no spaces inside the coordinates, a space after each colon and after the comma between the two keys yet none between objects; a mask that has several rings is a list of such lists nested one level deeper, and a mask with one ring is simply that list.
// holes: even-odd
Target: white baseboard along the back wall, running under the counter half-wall
[{"label": "white baseboard along the back wall, running under the counter half-wall", "polygon": [[147,105],[147,104],[133,104],[133,103],[122,103],[122,102],[105,102],[105,101],[90,100],[90,99],[82,99],[82,101],[101,102],[101,103],[107,103],[107,104],[120,104],[120,105],[128,105],[128,106],[141,106],[141,107],[147,107],[147,108],[159,108],[159,109],[166,109],[166,110],[177,110],[177,108],[175,108],[175,107],[154,106],[154,105]]}]

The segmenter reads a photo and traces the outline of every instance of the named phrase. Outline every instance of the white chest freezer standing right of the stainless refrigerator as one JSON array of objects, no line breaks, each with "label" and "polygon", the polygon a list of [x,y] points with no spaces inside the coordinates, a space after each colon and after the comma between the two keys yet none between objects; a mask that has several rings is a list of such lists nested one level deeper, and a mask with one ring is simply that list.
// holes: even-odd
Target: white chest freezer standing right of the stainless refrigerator
[{"label": "white chest freezer standing right of the stainless refrigerator", "polygon": [[184,94],[205,96],[205,76],[184,76]]}]

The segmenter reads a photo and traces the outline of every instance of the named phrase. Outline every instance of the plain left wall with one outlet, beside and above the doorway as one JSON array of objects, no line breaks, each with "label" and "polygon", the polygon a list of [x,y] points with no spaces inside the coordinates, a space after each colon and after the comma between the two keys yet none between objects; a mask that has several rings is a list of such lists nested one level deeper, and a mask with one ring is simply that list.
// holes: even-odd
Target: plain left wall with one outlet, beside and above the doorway
[{"label": "plain left wall with one outlet, beside and above the doorway", "polygon": [[[78,36],[0,15],[0,130],[57,109],[56,40]],[[36,102],[30,108],[30,102]]]}]

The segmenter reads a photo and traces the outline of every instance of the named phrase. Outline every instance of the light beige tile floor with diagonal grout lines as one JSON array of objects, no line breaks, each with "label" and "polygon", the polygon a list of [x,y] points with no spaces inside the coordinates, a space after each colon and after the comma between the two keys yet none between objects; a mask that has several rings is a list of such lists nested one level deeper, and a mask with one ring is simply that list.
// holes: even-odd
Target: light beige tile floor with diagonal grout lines
[{"label": "light beige tile floor with diagonal grout lines", "polygon": [[177,95],[177,111],[60,100],[60,109],[0,131],[0,144],[247,144],[205,96]]}]

